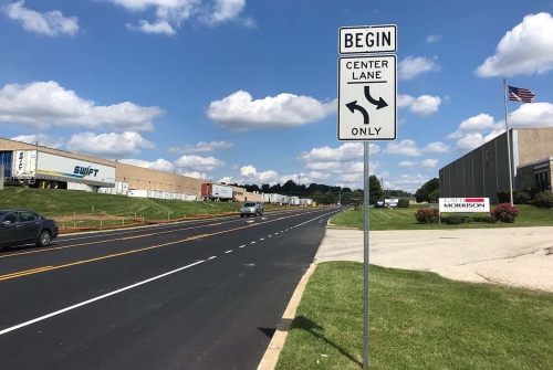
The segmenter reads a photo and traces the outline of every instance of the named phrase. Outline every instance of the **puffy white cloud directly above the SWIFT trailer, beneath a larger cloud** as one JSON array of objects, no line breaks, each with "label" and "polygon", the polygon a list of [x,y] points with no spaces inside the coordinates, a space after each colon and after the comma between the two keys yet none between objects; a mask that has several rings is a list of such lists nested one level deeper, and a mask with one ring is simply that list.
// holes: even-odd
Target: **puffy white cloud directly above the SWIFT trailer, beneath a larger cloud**
[{"label": "puffy white cloud directly above the SWIFT trailer, beneath a larger cloud", "polygon": [[93,133],[76,134],[67,142],[71,151],[96,156],[101,158],[118,158],[140,152],[140,148],[150,149],[155,145],[138,133],[101,134]]}]

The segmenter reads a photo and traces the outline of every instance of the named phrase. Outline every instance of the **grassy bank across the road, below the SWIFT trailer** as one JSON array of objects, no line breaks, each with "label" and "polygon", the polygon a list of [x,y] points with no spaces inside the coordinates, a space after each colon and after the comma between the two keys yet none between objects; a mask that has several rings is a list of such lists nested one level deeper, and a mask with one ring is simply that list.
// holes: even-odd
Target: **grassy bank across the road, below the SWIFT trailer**
[{"label": "grassy bank across the road, below the SWIFT trailer", "polygon": [[[237,212],[241,203],[227,202],[185,202],[179,200],[131,198],[124,195],[102,194],[84,191],[58,189],[29,189],[7,187],[0,191],[0,209],[29,209],[65,222],[73,226],[73,218],[77,226],[105,225],[131,222],[132,218],[144,216],[146,220],[167,220],[198,214],[216,214]],[[278,205],[264,204],[264,209]],[[76,214],[76,216],[74,216]]]}]

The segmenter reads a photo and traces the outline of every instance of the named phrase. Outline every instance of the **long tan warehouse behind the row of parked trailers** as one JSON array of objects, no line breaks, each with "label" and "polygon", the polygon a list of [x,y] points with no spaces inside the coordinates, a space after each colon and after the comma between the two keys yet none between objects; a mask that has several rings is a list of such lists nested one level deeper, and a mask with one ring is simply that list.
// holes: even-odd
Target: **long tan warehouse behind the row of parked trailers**
[{"label": "long tan warehouse behind the row of parked trailers", "polygon": [[[154,169],[126,165],[118,161],[95,158],[60,149],[53,149],[44,146],[36,146],[36,145],[0,138],[0,151],[10,151],[10,150],[40,150],[53,155],[115,167],[115,181],[128,183],[128,189],[132,190],[156,190],[156,191],[171,192],[171,193],[196,194],[199,199],[201,194],[201,184],[206,182],[212,182],[212,181],[185,177],[176,173],[169,173]],[[234,188],[236,199],[238,201],[244,201],[246,199],[250,201],[262,200],[260,193],[250,193],[239,187],[233,187],[233,188]]]}]

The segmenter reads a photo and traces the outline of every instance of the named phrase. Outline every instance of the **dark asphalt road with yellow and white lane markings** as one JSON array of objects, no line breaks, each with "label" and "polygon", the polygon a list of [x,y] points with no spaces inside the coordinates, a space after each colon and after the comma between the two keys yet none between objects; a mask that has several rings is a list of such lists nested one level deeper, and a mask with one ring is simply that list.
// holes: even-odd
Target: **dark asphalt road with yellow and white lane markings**
[{"label": "dark asphalt road with yellow and white lane markings", "polygon": [[0,369],[255,369],[340,210],[62,236],[0,253]]}]

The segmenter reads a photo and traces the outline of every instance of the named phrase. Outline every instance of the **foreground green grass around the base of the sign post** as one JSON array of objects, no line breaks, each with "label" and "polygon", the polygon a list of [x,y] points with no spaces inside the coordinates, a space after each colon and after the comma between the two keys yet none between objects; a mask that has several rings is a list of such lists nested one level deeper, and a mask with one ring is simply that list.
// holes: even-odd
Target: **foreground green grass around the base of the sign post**
[{"label": "foreground green grass around the base of the sign post", "polygon": [[[553,294],[371,266],[369,305],[371,369],[553,369]],[[345,370],[362,363],[363,264],[322,263],[276,369]]]}]

